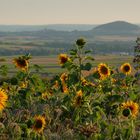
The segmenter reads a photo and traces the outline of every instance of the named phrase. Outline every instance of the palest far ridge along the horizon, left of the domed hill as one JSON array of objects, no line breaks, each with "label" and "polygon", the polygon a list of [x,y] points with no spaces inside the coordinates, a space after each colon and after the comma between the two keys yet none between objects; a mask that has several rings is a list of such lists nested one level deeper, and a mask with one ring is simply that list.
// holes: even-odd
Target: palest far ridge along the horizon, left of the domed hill
[{"label": "palest far ridge along the horizon, left of the domed hill", "polygon": [[0,25],[0,32],[25,32],[46,29],[56,31],[88,31],[96,26],[89,24]]}]

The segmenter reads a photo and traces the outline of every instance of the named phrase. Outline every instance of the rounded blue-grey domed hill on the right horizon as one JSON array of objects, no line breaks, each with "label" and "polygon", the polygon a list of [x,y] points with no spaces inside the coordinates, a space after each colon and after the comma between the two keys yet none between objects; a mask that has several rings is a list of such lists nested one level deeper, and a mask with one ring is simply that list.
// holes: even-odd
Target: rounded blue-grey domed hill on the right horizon
[{"label": "rounded blue-grey domed hill on the right horizon", "polygon": [[97,35],[134,35],[140,33],[140,27],[125,21],[115,21],[99,25],[92,31]]}]

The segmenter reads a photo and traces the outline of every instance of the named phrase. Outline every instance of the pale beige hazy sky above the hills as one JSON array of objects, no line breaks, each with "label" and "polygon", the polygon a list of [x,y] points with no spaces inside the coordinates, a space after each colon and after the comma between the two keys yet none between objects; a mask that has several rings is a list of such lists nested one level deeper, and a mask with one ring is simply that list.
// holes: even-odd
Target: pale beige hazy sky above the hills
[{"label": "pale beige hazy sky above the hills", "polygon": [[0,24],[140,23],[140,0],[0,0]]}]

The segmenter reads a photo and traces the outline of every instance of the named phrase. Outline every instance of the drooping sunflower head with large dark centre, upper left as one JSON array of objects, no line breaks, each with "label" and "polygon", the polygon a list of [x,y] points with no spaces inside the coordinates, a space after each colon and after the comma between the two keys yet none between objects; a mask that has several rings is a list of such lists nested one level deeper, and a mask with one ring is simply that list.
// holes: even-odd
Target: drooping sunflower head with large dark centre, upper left
[{"label": "drooping sunflower head with large dark centre, upper left", "polygon": [[17,68],[23,70],[23,71],[26,71],[27,68],[28,68],[28,60],[22,58],[22,57],[19,57],[19,58],[15,58],[13,60],[14,64],[16,65]]}]

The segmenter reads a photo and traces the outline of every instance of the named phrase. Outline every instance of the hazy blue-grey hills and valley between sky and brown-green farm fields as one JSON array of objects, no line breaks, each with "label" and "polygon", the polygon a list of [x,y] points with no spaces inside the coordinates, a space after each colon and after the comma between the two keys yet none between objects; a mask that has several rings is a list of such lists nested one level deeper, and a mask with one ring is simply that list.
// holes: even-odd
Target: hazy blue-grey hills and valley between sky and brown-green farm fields
[{"label": "hazy blue-grey hills and valley between sky and brown-green farm fields", "polygon": [[75,40],[83,37],[93,53],[132,54],[138,36],[140,26],[125,21],[101,25],[0,25],[0,53],[59,54],[71,49]]}]

